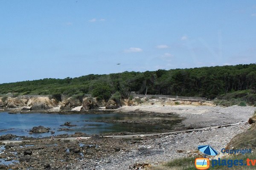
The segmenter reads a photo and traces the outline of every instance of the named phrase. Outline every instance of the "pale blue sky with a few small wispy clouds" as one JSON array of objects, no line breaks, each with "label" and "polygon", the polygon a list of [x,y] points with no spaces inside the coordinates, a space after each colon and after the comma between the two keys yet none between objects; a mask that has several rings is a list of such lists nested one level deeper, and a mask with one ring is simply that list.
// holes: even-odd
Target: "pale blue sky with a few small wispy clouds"
[{"label": "pale blue sky with a few small wispy clouds", "polygon": [[0,1],[0,83],[255,62],[255,0]]}]

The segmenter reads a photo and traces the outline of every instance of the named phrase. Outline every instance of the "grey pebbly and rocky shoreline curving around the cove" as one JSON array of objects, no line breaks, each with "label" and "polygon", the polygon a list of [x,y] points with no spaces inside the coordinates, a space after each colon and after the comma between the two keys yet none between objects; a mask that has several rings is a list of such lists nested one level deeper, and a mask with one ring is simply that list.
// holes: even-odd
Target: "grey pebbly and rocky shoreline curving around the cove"
[{"label": "grey pebbly and rocky shoreline curving around the cove", "polygon": [[[50,164],[51,169],[56,170],[93,170],[94,168],[97,170],[128,170],[129,167],[139,166],[138,164],[157,165],[174,158],[196,156],[200,154],[197,150],[198,145],[210,144],[216,150],[226,147],[234,136],[250,127],[247,121],[255,109],[255,107],[250,106],[227,108],[192,105],[125,106],[116,109],[115,112],[139,115],[150,113],[152,116],[175,113],[186,117],[180,123],[180,127],[191,127],[192,129],[148,135],[111,135],[105,137],[96,135],[77,140],[73,138],[32,140],[20,144],[32,144],[33,147],[20,148],[20,144],[16,143],[13,147],[4,150],[4,153],[12,156],[13,149],[17,150],[17,157],[13,157],[13,159],[20,160],[20,164],[8,167],[12,169],[15,169],[15,166],[16,169],[17,166],[30,166],[32,170],[43,169],[45,164],[41,165],[38,160],[44,160],[46,164]],[[79,143],[90,144],[92,147],[79,147]],[[48,146],[49,144],[57,144],[58,146]],[[72,149],[69,153],[65,151],[67,147]],[[38,150],[39,148],[41,149]],[[31,156],[24,155],[24,151],[28,149],[32,151]],[[50,161],[52,153],[58,155],[55,156],[54,162]],[[32,159],[33,156],[39,156],[40,159]],[[29,160],[23,161],[24,159]],[[68,161],[61,161],[63,159],[68,159]]]}]

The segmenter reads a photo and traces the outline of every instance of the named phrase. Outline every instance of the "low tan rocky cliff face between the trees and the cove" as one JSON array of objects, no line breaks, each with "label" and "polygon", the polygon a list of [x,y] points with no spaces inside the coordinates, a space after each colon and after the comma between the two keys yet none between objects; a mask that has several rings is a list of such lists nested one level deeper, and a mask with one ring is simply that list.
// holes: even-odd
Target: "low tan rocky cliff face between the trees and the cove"
[{"label": "low tan rocky cliff face between the trees and the cove", "polygon": [[0,111],[12,112],[66,112],[66,111],[88,111],[91,109],[116,109],[122,106],[131,105],[213,105],[207,101],[192,101],[180,99],[148,99],[135,97],[134,99],[116,99],[105,101],[97,101],[96,98],[85,97],[82,101],[74,98],[63,99],[57,102],[55,99],[49,99],[47,96],[38,97],[8,97],[0,98]]}]

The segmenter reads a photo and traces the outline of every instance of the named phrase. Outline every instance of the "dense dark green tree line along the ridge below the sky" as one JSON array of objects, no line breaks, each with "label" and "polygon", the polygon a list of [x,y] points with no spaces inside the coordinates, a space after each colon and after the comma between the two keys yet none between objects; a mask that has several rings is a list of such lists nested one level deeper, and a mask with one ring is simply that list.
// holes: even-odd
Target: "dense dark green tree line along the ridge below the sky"
[{"label": "dense dark green tree line along the ridge below the sky", "polygon": [[76,78],[40,79],[0,84],[0,94],[91,94],[109,99],[119,92],[128,97],[137,94],[199,96],[213,99],[220,94],[256,90],[256,64],[225,65],[202,68],[90,74]]}]

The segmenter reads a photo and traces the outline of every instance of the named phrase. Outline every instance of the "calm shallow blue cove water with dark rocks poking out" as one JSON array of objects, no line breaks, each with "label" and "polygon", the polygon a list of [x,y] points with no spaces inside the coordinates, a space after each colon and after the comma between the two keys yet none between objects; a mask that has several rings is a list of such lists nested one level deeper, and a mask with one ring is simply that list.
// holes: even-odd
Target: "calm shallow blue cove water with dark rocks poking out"
[{"label": "calm shallow blue cove water with dark rocks poking out", "polygon": [[[155,124],[151,125],[150,121],[156,119],[164,119],[166,125]],[[107,120],[145,120],[147,123],[119,123],[108,122]],[[74,127],[61,126],[65,122],[71,122]],[[117,133],[117,132],[143,132],[155,133],[162,129],[172,130],[173,125],[181,122],[177,116],[140,116],[127,115],[120,113],[105,113],[105,114],[58,114],[58,113],[25,113],[25,114],[8,114],[0,113],[0,135],[14,134],[17,136],[32,136],[45,137],[52,136],[51,133],[33,133],[29,134],[29,130],[34,126],[42,125],[49,127],[55,133],[74,134],[82,132],[87,134],[102,134],[102,133]],[[58,131],[60,128],[67,130]],[[50,130],[50,131],[51,131]]]}]

